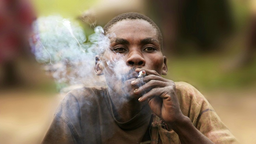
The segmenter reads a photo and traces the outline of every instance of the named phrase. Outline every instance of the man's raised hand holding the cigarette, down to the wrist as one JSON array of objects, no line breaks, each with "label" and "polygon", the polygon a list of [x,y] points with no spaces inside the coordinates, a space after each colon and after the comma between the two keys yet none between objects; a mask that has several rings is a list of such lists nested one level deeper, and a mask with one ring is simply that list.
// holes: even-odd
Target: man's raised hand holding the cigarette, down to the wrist
[{"label": "man's raised hand holding the cigarette, down to the wrist", "polygon": [[141,96],[140,102],[148,100],[153,113],[170,127],[172,123],[184,117],[176,96],[175,83],[161,77],[154,70],[136,69],[138,72],[141,70],[145,70],[147,76],[131,82],[132,86],[140,86],[134,94]]}]

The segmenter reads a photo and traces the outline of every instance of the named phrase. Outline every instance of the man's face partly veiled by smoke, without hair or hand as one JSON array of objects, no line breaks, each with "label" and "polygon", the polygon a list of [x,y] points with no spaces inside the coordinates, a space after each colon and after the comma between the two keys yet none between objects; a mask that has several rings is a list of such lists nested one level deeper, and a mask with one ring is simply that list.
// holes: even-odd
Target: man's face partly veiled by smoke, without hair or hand
[{"label": "man's face partly veiled by smoke, without hair or hand", "polygon": [[138,77],[136,68],[162,74],[164,57],[156,29],[141,19],[117,22],[109,30],[110,48],[101,56],[108,87],[115,93],[132,96],[130,82]]}]

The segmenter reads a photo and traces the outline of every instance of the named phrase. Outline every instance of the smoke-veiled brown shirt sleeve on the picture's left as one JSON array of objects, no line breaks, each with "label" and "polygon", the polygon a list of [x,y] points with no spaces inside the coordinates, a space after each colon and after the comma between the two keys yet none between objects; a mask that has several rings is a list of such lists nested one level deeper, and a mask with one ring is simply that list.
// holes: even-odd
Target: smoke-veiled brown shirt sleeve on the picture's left
[{"label": "smoke-veiled brown shirt sleeve on the picture's left", "polygon": [[74,92],[69,92],[48,129],[42,144],[78,144],[80,139],[80,107]]}]

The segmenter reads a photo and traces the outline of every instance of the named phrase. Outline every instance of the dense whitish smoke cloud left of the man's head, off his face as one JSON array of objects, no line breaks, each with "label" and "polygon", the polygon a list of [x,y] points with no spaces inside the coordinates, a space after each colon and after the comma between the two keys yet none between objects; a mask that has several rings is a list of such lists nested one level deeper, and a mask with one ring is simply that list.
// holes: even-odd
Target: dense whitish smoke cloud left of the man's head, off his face
[{"label": "dense whitish smoke cloud left of the man's head, off his face", "polygon": [[59,89],[70,85],[105,85],[104,78],[94,72],[95,55],[109,46],[102,27],[95,27],[95,33],[87,40],[77,22],[61,16],[39,17],[33,26],[31,51]]}]

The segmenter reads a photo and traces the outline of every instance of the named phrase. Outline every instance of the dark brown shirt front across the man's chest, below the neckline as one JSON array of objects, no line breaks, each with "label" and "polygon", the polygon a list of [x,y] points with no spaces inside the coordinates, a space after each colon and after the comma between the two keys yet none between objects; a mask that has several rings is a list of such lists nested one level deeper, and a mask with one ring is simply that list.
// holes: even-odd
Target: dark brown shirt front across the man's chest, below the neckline
[{"label": "dark brown shirt front across the man's chest, below the neckline", "polygon": [[149,121],[136,129],[123,129],[116,123],[108,109],[104,108],[82,119],[81,137],[84,143],[139,144],[150,140]]}]

